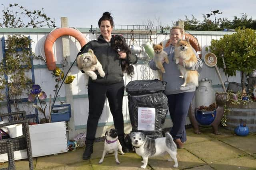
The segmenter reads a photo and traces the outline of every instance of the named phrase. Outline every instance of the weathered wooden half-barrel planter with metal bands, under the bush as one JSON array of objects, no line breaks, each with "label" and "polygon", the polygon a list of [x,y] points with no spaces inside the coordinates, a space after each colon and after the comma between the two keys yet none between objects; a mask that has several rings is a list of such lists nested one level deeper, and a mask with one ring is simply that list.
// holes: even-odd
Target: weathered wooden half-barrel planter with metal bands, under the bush
[{"label": "weathered wooden half-barrel planter with metal bands, under the bush", "polygon": [[226,129],[234,130],[240,123],[245,123],[250,132],[256,132],[256,102],[247,105],[228,104]]}]

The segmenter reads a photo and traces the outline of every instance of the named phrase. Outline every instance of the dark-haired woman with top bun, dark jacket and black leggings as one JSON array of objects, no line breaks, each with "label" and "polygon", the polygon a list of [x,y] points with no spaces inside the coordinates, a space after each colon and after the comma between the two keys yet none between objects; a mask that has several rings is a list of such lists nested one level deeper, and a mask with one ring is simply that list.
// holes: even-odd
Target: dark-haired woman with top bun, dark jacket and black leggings
[{"label": "dark-haired woman with top bun, dark jacket and black leggings", "polygon": [[88,81],[89,115],[86,128],[86,147],[83,153],[84,160],[90,159],[93,152],[96,129],[106,98],[108,98],[110,111],[113,115],[114,126],[118,130],[118,139],[122,145],[122,150],[124,152],[129,151],[124,143],[124,118],[122,113],[124,75],[120,59],[127,59],[129,63],[135,64],[137,57],[135,55],[127,57],[125,52],[119,51],[117,53],[112,49],[110,40],[114,21],[109,12],[104,12],[98,21],[98,25],[101,33],[98,40],[88,42],[78,53],[79,55],[86,53],[88,49],[92,49],[105,72],[103,78],[96,72],[97,79],[89,78]]}]

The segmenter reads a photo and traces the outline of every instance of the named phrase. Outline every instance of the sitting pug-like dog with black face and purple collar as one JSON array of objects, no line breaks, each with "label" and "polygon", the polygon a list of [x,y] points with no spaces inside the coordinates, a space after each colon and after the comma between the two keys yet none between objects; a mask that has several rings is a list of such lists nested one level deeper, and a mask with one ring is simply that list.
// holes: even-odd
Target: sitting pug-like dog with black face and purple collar
[{"label": "sitting pug-like dog with black face and purple collar", "polygon": [[113,153],[115,154],[116,163],[120,164],[118,158],[117,158],[117,151],[120,151],[120,154],[124,155],[124,152],[122,151],[122,146],[118,140],[118,131],[117,129],[110,129],[106,131],[105,133],[106,140],[104,142],[104,150],[102,153],[102,157],[100,159],[100,164],[103,162],[104,157],[107,153]]}]

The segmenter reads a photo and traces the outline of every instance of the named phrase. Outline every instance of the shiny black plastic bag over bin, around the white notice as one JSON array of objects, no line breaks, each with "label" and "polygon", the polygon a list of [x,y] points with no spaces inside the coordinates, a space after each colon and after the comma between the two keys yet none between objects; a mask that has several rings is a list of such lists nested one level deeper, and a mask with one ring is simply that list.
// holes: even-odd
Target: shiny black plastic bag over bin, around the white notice
[{"label": "shiny black plastic bag over bin, around the white notice", "polygon": [[[162,137],[162,125],[168,112],[168,99],[163,93],[166,82],[160,80],[134,80],[126,85],[132,132],[142,132],[151,138]],[[155,108],[154,130],[138,129],[139,107]],[[142,109],[140,108],[140,109]]]}]

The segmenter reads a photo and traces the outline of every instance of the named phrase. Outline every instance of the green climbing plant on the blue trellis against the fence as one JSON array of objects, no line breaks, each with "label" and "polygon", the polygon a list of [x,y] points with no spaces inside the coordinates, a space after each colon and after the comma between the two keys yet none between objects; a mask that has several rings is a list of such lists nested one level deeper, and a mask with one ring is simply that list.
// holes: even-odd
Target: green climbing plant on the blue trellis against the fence
[{"label": "green climbing plant on the blue trellis against the fence", "polygon": [[[9,99],[19,99],[28,93],[32,80],[26,75],[31,65],[29,45],[31,39],[24,35],[7,35],[5,57],[0,62],[0,99],[6,98],[5,87],[8,87]],[[20,49],[20,51],[17,51]],[[8,80],[6,77],[8,76]]]}]

